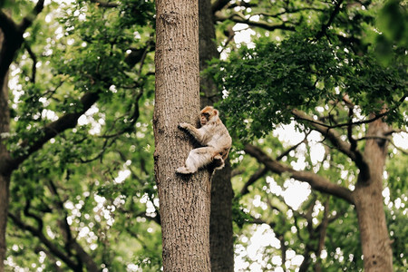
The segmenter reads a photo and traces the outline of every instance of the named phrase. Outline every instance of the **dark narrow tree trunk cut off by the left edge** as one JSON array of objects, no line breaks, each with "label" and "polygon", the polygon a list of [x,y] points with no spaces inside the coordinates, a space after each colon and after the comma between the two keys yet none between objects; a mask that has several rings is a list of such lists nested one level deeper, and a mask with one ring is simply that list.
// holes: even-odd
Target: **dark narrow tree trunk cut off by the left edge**
[{"label": "dark narrow tree trunk cut off by the left edge", "polygon": [[[3,49],[4,35],[0,30],[0,53]],[[1,62],[0,62],[1,65]],[[10,112],[8,109],[7,73],[0,79],[0,272],[4,271],[5,260],[5,229],[8,214],[8,196],[10,186],[10,173],[7,169],[9,153],[2,135],[9,132]]]}]

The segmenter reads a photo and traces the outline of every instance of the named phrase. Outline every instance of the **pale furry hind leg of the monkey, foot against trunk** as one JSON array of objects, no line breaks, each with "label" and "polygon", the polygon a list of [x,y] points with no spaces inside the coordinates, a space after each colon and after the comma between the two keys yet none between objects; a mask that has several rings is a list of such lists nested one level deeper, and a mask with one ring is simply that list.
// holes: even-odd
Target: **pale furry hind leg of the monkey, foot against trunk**
[{"label": "pale furry hind leg of the monkey, foot against trunk", "polygon": [[189,157],[186,160],[186,165],[179,167],[176,173],[192,174],[199,170],[199,168],[206,166],[211,162],[212,149],[209,147],[199,148],[189,151]]}]

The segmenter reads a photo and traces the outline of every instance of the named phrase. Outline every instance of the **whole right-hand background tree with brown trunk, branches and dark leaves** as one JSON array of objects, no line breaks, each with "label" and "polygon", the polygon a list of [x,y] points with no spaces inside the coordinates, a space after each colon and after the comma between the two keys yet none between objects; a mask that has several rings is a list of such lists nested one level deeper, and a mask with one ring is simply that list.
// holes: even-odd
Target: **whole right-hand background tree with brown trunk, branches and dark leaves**
[{"label": "whole right-hand background tree with brown trunk, branches and dark leaves", "polygon": [[[305,181],[312,189],[354,205],[365,269],[391,271],[392,250],[382,190],[390,141],[387,136],[395,132],[389,124],[406,125],[405,56],[398,53],[404,49],[397,48],[390,55],[390,67],[376,60],[370,47],[340,39],[345,25],[343,13],[350,12],[338,1],[321,27],[307,25],[310,33],[304,29],[304,35],[291,35],[279,44],[259,40],[255,49],[243,48],[231,54],[228,63],[221,64],[217,79],[228,92],[224,110],[241,139],[259,138],[277,123],[296,121],[296,128],[305,134],[321,133],[321,141],[332,147],[329,156],[339,151],[353,161],[358,169],[355,179],[342,186],[327,180],[325,171],[313,168],[313,164],[309,170],[297,170],[253,145],[244,149],[267,170],[278,175],[287,173],[291,179]],[[350,34],[353,41],[360,38],[358,32]],[[356,54],[362,51],[364,57]]]}]

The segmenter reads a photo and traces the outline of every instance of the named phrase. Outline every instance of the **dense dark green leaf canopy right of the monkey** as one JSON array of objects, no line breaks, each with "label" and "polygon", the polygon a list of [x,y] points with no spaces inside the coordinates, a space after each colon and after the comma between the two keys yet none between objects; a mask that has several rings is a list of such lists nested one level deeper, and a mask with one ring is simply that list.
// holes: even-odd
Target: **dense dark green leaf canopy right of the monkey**
[{"label": "dense dark green leaf canopy right of the monkey", "polygon": [[314,112],[345,93],[365,116],[379,114],[385,103],[387,121],[407,123],[399,108],[407,92],[405,63],[384,67],[373,55],[358,56],[310,34],[281,44],[259,39],[255,48],[242,46],[228,61],[214,61],[209,73],[227,92],[221,107],[238,138],[265,136],[292,121],[292,110]]}]

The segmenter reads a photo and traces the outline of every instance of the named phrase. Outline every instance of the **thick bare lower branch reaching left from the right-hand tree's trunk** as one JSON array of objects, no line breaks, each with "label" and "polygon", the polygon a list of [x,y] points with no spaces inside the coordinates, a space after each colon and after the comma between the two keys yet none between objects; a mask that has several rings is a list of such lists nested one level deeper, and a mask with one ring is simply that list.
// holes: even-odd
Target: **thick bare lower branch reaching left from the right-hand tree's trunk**
[{"label": "thick bare lower branch reaching left from the right-hand tree's trunk", "polygon": [[354,204],[355,202],[351,190],[332,183],[329,180],[326,180],[325,178],[311,171],[294,170],[290,167],[287,167],[280,162],[277,162],[277,160],[272,160],[264,151],[261,151],[259,148],[251,144],[247,144],[244,148],[244,151],[246,151],[252,157],[256,158],[260,163],[263,163],[268,170],[271,170],[274,173],[277,173],[279,175],[286,172],[290,173],[291,178],[307,182],[308,184],[310,184],[312,189],[334,195],[335,197],[338,197],[340,199],[345,199],[351,204]]}]

